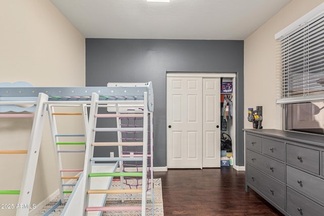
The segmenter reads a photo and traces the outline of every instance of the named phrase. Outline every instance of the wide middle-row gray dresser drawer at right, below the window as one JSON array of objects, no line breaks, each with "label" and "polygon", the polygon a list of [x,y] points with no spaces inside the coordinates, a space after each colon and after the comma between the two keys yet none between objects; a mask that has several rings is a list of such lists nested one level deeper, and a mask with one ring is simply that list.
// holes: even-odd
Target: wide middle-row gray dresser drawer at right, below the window
[{"label": "wide middle-row gray dresser drawer at right, below the window", "polygon": [[287,185],[324,204],[324,180],[287,166]]}]

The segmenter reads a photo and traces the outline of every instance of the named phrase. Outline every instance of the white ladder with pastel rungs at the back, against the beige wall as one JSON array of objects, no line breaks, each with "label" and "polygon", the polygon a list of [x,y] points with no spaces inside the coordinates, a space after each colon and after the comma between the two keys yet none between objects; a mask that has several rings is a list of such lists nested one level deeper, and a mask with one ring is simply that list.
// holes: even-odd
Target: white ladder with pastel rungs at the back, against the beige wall
[{"label": "white ladder with pastel rungs at the back, against the beige wall", "polygon": [[[58,171],[58,185],[60,192],[60,201],[57,205],[61,203],[65,203],[65,194],[71,194],[72,190],[67,190],[66,188],[72,187],[74,188],[76,180],[79,179],[78,176],[71,176],[71,174],[80,174],[83,171],[83,167],[75,167],[68,169],[68,164],[63,164],[62,162],[62,154],[73,154],[80,153],[84,154],[86,152],[86,125],[88,124],[88,114],[85,108],[86,104],[69,104],[67,101],[52,101],[48,102],[48,115],[52,133],[53,147],[55,151],[55,159],[57,164]],[[72,109],[74,108],[74,109]],[[70,111],[72,109],[72,112]],[[77,110],[76,110],[77,109]],[[80,111],[82,109],[82,111]],[[82,122],[84,123],[84,131],[80,134],[71,133],[69,131],[65,133],[58,133],[58,131],[62,132],[62,129],[58,127],[62,127],[63,125],[58,125],[57,118],[68,117],[70,120],[77,120],[77,118],[82,118]],[[67,118],[65,118],[67,119]],[[59,120],[59,119],[58,119]],[[67,120],[68,122],[68,120]],[[75,141],[77,140],[77,142]],[[61,148],[61,146],[68,148]],[[83,148],[80,146],[84,146]],[[74,180],[74,181],[73,181]]]}]

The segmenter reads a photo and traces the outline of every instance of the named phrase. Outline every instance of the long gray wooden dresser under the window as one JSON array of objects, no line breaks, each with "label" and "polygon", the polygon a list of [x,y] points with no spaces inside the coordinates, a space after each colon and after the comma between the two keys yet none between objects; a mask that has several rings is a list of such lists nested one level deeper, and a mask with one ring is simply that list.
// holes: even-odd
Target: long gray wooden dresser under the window
[{"label": "long gray wooden dresser under the window", "polygon": [[324,215],[324,136],[245,129],[246,192],[285,215]]}]

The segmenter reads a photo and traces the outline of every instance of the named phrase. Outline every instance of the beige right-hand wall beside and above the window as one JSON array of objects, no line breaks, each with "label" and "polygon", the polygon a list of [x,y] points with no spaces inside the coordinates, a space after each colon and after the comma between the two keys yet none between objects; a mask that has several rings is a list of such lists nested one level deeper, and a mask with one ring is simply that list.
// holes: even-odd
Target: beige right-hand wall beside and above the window
[{"label": "beige right-hand wall beside and above the window", "polygon": [[282,128],[281,108],[280,105],[276,105],[274,34],[323,2],[323,0],[293,0],[245,39],[245,128],[252,128],[252,123],[247,120],[247,110],[256,106],[263,106],[263,128]]}]

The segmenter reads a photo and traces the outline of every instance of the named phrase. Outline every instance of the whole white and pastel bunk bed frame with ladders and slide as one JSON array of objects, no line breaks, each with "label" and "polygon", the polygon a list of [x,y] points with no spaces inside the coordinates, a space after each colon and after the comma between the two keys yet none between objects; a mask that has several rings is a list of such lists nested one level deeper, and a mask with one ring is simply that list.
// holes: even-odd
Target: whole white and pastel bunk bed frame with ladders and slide
[{"label": "whole white and pastel bunk bed frame with ladders and slide", "polygon": [[[31,192],[34,183],[36,164],[39,147],[44,127],[46,112],[49,114],[50,126],[57,168],[60,173],[59,189],[60,201],[44,215],[49,215],[57,206],[65,203],[64,194],[70,194],[61,215],[101,215],[103,211],[109,210],[141,210],[145,215],[147,191],[146,185],[151,192],[153,203],[153,89],[152,83],[110,83],[107,87],[32,87],[26,82],[0,83],[0,118],[26,118],[33,117],[33,125],[27,150],[0,150],[0,154],[26,154],[26,163],[20,190],[0,190],[0,194],[19,195],[18,203],[30,203]],[[59,113],[55,111],[57,106],[81,106],[81,113]],[[89,111],[90,107],[90,111]],[[98,113],[100,107],[106,107],[108,114]],[[130,111],[131,108],[134,111]],[[89,111],[89,116],[88,116]],[[21,113],[23,112],[23,113]],[[111,113],[112,112],[112,113]],[[58,134],[57,116],[82,116],[85,134]],[[97,127],[97,118],[116,118],[116,127]],[[142,125],[121,124],[121,119],[142,119]],[[148,128],[149,127],[149,128]],[[96,133],[116,132],[117,142],[95,142]],[[142,133],[142,142],[129,142],[123,138],[123,133]],[[60,142],[64,137],[83,137],[84,142]],[[127,142],[125,142],[127,141]],[[61,150],[60,146],[83,145],[85,150]],[[93,157],[95,146],[118,146],[118,157]],[[123,146],[141,146],[142,152],[123,152]],[[148,149],[149,146],[149,149]],[[63,169],[60,158],[61,153],[84,153],[85,163],[82,168]],[[124,164],[126,161],[141,161],[142,171],[126,172]],[[148,161],[148,162],[147,162]],[[101,162],[101,163],[96,163]],[[116,171],[119,165],[119,170]],[[148,167],[151,167],[149,169]],[[145,171],[144,171],[145,170]],[[150,172],[150,180],[147,180],[147,170]],[[64,176],[66,173],[79,172],[79,176]],[[113,177],[141,178],[142,189],[110,188]],[[76,184],[64,183],[64,180],[77,180]],[[66,191],[64,187],[73,186],[73,190]],[[137,185],[138,186],[138,185]],[[108,207],[105,205],[107,194],[141,193],[142,204],[131,207]],[[80,201],[80,197],[84,197]],[[28,208],[19,208],[16,215],[28,215]]]}]

